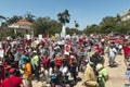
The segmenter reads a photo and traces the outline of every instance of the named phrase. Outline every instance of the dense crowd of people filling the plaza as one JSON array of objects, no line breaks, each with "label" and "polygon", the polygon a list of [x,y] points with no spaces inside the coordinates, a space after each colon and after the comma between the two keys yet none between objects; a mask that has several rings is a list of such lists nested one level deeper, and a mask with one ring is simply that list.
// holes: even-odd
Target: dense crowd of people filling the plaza
[{"label": "dense crowd of people filling the plaza", "polygon": [[[130,79],[130,47],[126,35],[3,39],[0,41],[0,87],[34,87],[32,80],[46,82],[51,87],[73,87],[79,79],[86,87],[105,87],[108,80],[105,53],[110,67],[118,65],[117,54],[125,54]],[[83,74],[82,78],[79,73]]]}]

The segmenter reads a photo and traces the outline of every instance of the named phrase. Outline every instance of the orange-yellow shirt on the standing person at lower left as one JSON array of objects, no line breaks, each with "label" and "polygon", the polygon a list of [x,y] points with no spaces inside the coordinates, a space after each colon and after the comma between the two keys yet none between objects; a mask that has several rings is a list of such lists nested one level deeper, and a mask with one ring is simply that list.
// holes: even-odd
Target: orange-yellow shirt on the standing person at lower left
[{"label": "orange-yellow shirt on the standing person at lower left", "polygon": [[31,79],[31,65],[30,65],[30,63],[25,64],[24,72],[25,72],[25,78]]}]

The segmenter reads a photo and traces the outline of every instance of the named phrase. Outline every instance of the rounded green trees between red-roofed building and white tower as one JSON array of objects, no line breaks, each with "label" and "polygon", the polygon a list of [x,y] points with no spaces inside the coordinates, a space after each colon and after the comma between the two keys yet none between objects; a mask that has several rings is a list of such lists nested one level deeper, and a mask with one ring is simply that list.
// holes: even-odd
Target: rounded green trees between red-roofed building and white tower
[{"label": "rounded green trees between red-roofed building and white tower", "polygon": [[35,36],[38,36],[38,34],[46,34],[47,32],[49,34],[57,34],[61,33],[62,24],[50,17],[38,17],[34,22],[32,28]]}]

